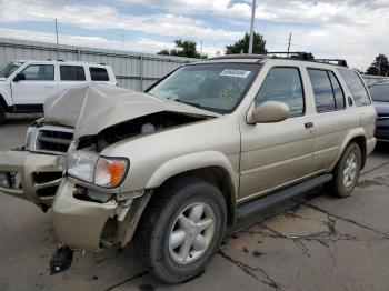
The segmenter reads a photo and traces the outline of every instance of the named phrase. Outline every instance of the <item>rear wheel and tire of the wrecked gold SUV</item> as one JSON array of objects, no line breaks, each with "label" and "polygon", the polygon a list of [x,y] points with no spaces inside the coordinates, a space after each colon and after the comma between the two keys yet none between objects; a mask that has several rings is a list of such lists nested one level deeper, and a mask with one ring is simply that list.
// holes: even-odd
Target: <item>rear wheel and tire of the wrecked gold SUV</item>
[{"label": "rear wheel and tire of the wrecked gold SUV", "polygon": [[[362,153],[356,142],[351,142],[333,169],[333,180],[330,182],[331,194],[338,198],[349,197],[355,189],[362,164]],[[345,173],[347,172],[347,173]],[[348,179],[347,179],[348,177]]]}]

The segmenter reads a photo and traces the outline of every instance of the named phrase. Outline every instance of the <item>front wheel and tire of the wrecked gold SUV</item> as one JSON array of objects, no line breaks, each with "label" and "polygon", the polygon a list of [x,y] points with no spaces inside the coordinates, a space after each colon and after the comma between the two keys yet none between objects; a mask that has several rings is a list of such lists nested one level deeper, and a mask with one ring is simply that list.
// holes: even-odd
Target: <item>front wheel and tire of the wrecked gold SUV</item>
[{"label": "front wheel and tire of the wrecked gold SUV", "polygon": [[[202,227],[186,229],[190,219]],[[141,263],[161,281],[183,282],[203,272],[219,250],[226,223],[226,201],[218,188],[201,179],[178,178],[153,194],[137,228],[134,250]]]}]

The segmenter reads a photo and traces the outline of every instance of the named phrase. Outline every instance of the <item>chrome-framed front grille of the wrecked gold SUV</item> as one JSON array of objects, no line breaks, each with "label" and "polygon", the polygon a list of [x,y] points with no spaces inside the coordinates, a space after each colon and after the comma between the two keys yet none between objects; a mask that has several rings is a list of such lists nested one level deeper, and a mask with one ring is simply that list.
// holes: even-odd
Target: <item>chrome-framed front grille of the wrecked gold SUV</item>
[{"label": "chrome-framed front grille of the wrecked gold SUV", "polygon": [[64,127],[44,126],[29,130],[27,147],[30,151],[66,153],[73,139],[73,130]]}]

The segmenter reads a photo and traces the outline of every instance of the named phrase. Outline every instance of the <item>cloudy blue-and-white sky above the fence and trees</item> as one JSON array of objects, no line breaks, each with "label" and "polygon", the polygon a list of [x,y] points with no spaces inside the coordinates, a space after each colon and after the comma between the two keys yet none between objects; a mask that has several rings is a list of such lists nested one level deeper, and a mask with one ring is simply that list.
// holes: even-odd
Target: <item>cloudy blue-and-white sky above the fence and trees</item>
[{"label": "cloudy blue-and-white sky above the fence and trees", "polygon": [[[0,0],[0,37],[158,52],[174,39],[225,47],[249,31],[250,0]],[[270,51],[311,51],[366,69],[389,54],[389,0],[257,0],[256,31]],[[123,39],[123,41],[122,41]],[[200,46],[198,47],[200,50]]]}]

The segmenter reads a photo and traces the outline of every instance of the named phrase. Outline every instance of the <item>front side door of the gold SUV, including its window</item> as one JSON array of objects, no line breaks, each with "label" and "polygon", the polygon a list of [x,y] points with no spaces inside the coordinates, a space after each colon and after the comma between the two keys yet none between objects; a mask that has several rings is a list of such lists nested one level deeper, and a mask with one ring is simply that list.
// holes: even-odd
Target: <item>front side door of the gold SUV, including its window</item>
[{"label": "front side door of the gold SUV, including its window", "polygon": [[310,117],[306,116],[300,69],[271,68],[252,106],[265,101],[287,103],[289,118],[242,126],[239,201],[266,194],[310,174],[313,134]]}]

